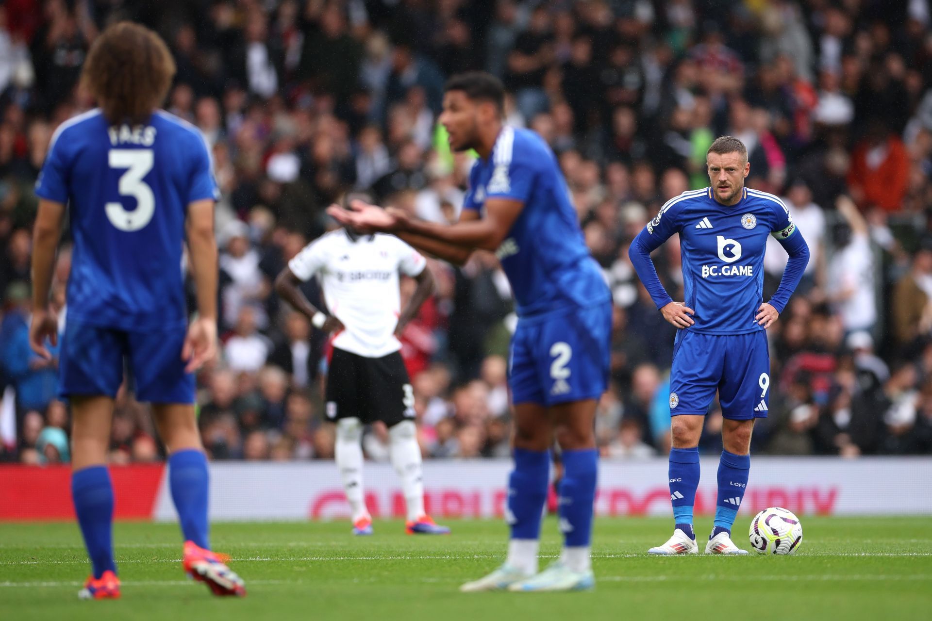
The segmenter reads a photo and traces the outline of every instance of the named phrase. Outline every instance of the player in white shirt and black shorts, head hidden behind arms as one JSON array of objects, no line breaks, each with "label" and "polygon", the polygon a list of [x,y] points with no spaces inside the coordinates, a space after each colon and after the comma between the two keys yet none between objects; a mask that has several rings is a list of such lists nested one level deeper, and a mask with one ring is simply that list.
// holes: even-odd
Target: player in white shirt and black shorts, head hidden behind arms
[{"label": "player in white shirt and black shorts, head hidden behind arms", "polygon": [[[399,273],[418,288],[401,310]],[[319,277],[329,313],[315,308],[298,289]],[[433,291],[427,261],[396,236],[356,235],[349,228],[312,241],[282,270],[275,289],[307,315],[318,330],[332,332],[327,373],[326,417],[336,423],[336,466],[352,510],[353,533],[372,534],[363,495],[363,425],[389,428],[391,465],[401,478],[409,534],[447,534],[424,511],[424,485],[414,394],[398,335]]]}]

